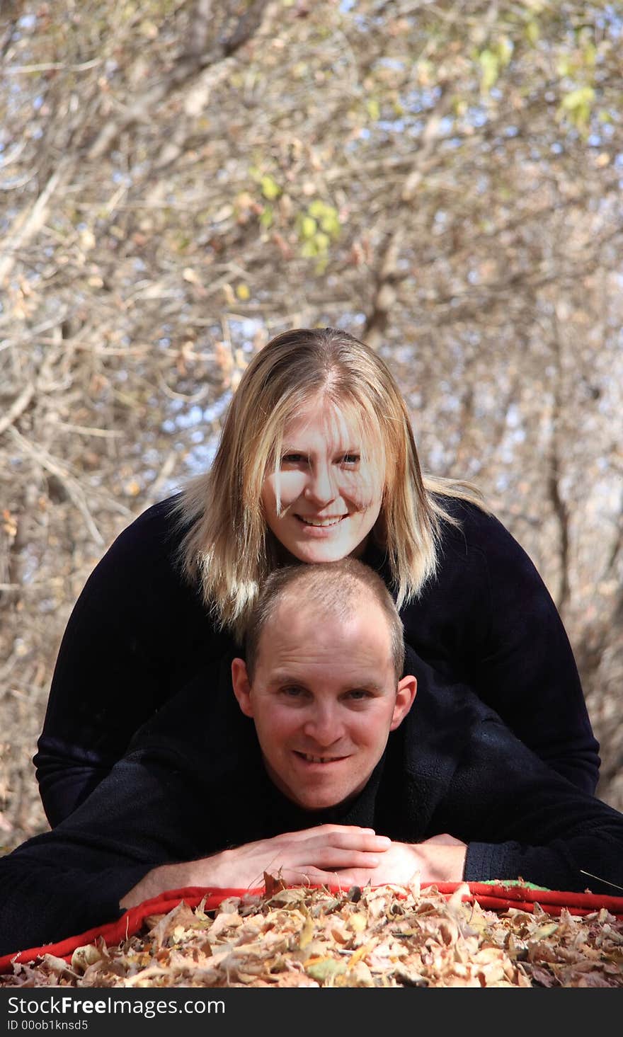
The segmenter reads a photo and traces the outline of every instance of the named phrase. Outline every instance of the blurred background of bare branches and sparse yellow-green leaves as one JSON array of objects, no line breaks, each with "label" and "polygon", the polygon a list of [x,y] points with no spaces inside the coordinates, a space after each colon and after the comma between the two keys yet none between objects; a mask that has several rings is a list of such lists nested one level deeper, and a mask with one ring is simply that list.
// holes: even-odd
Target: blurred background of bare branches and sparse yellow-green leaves
[{"label": "blurred background of bare branches and sparse yellow-green leaves", "polygon": [[3,0],[0,844],[69,611],[334,325],[545,580],[623,809],[623,3]]}]

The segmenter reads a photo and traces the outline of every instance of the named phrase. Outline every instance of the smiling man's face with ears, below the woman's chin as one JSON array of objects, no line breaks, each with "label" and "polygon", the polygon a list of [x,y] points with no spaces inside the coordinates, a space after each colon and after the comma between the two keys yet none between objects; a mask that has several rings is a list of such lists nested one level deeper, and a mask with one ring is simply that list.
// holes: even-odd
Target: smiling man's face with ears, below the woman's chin
[{"label": "smiling man's face with ears, below the woman's chin", "polygon": [[321,616],[294,585],[264,626],[252,686],[243,660],[232,664],[268,776],[306,810],[361,791],[416,694],[415,677],[396,680],[383,610],[362,598],[348,619]]}]

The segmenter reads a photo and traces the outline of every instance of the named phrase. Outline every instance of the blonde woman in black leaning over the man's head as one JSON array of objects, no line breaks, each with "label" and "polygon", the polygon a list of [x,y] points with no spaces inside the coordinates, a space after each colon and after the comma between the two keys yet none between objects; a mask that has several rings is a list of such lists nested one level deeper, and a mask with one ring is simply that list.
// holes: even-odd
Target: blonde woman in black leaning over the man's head
[{"label": "blonde woman in black leaning over the man's head", "polygon": [[422,477],[376,354],[342,331],[299,329],[245,371],[210,471],[140,515],[87,581],[34,758],[50,823],[191,679],[204,672],[209,694],[267,572],[346,555],[383,576],[416,652],[594,792],[598,746],[534,565],[469,484]]}]

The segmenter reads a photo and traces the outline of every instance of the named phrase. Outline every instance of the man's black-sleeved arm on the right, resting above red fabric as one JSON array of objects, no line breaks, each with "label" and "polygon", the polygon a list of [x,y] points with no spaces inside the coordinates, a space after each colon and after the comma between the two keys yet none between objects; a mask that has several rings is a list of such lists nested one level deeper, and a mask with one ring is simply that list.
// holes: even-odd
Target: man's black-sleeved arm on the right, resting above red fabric
[{"label": "man's black-sleeved arm on the right, resting above red fabric", "polygon": [[623,887],[623,814],[556,774],[494,718],[475,729],[435,830],[469,843],[468,881],[520,877],[611,895]]}]

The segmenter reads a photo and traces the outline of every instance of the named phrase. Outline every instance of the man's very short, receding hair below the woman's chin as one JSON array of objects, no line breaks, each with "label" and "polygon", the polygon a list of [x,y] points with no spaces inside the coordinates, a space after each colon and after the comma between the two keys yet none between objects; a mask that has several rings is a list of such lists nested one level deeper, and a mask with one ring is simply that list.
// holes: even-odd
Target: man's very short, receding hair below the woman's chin
[{"label": "man's very short, receding hair below the woman's chin", "polygon": [[313,565],[286,565],[274,569],[263,582],[255,607],[249,617],[245,635],[245,652],[249,679],[253,680],[262,630],[286,596],[295,596],[320,615],[344,619],[358,606],[365,605],[366,593],[384,611],[390,632],[391,653],[396,681],[404,668],[404,630],[402,620],[383,580],[374,569],[356,558]]}]

